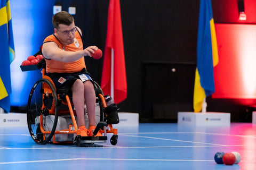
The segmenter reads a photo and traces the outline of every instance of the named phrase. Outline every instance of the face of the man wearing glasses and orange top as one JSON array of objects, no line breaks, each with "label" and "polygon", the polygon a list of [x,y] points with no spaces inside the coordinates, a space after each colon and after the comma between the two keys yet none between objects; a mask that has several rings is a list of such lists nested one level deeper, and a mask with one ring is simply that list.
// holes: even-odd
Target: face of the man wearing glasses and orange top
[{"label": "face of the man wearing glasses and orange top", "polygon": [[59,24],[59,28],[54,28],[54,32],[63,45],[72,44],[76,32],[75,23],[73,22],[70,25]]}]

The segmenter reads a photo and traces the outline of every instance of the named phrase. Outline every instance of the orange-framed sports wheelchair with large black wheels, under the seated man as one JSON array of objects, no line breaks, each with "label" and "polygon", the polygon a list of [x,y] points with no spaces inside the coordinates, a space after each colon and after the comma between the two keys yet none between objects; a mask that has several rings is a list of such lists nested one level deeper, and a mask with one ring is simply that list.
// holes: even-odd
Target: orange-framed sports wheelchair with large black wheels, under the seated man
[{"label": "orange-framed sports wheelchair with large black wheels, under the seated man", "polygon": [[[35,54],[34,56],[38,55]],[[29,67],[30,66],[30,67]],[[34,70],[32,65],[20,66],[22,71]],[[117,107],[107,106],[106,98],[97,82],[94,82],[96,94],[95,120],[96,128],[91,137],[82,137],[81,130],[76,123],[76,111],[64,89],[56,89],[50,77],[45,75],[45,60],[35,65],[36,69],[42,67],[42,79],[32,87],[27,104],[27,124],[32,139],[40,145],[46,143],[74,143],[76,146],[107,141],[107,133],[112,133],[111,145],[116,145],[118,134],[112,124],[119,123]],[[86,111],[86,105],[85,105]],[[112,117],[112,118],[111,118]],[[113,117],[115,120],[113,121]],[[112,119],[112,120],[111,120]],[[85,122],[86,122],[85,112]],[[87,127],[86,127],[87,128]],[[96,136],[100,132],[102,137]]]}]

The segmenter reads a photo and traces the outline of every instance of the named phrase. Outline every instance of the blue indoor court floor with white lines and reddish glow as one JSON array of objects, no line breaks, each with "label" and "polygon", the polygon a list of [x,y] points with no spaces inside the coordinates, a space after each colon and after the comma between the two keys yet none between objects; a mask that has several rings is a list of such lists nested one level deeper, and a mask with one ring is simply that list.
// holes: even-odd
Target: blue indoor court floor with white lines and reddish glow
[{"label": "blue indoor court floor with white lines and reddish glow", "polygon": [[[0,169],[256,169],[256,125],[251,123],[145,123],[118,128],[116,146],[109,140],[99,145],[103,147],[37,145],[27,128],[1,128]],[[216,164],[218,151],[237,151],[242,160]]]}]

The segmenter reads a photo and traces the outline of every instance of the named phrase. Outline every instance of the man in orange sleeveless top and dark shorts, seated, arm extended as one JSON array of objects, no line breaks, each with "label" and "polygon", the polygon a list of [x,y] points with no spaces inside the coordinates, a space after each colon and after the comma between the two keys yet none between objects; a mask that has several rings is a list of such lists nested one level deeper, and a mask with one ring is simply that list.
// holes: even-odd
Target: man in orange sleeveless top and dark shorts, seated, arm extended
[{"label": "man in orange sleeveless top and dark shorts, seated, arm extended", "polygon": [[[53,35],[45,38],[41,47],[46,61],[46,74],[52,78],[57,89],[72,91],[77,114],[78,128],[82,137],[92,136],[95,129],[95,91],[90,74],[86,71],[84,56],[90,56],[97,46],[83,48],[81,29],[75,26],[74,18],[61,11],[52,17]],[[89,129],[85,127],[84,104],[86,104]],[[96,136],[102,136],[97,133]]]}]

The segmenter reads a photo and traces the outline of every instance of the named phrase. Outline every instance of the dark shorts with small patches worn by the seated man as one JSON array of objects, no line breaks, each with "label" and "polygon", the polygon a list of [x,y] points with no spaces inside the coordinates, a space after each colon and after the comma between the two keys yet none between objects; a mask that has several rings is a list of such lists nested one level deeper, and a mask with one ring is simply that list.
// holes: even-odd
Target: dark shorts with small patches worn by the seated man
[{"label": "dark shorts with small patches worn by the seated man", "polygon": [[80,79],[83,82],[87,80],[93,82],[92,78],[90,77],[90,73],[85,69],[76,73],[46,73],[45,75],[52,79],[57,89],[57,93],[58,89],[62,89],[62,91],[68,93],[77,79]]}]

